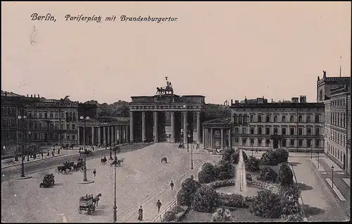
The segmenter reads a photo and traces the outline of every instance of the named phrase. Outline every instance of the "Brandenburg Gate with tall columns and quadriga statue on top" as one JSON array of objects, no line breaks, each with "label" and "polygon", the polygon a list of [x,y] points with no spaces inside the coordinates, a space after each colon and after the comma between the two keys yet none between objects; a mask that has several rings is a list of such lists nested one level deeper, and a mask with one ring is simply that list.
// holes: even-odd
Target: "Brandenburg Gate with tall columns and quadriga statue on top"
[{"label": "Brandenburg Gate with tall columns and quadriga statue on top", "polygon": [[[171,82],[151,97],[131,97],[130,141],[201,143],[205,97],[173,94]],[[194,122],[196,121],[196,122]],[[183,127],[183,128],[182,128]]]}]

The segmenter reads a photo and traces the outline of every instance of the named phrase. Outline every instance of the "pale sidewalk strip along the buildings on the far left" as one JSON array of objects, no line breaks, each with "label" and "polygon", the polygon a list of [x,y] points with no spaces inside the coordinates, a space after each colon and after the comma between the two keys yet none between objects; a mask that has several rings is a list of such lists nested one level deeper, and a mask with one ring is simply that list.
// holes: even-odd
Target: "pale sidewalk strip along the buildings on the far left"
[{"label": "pale sidewalk strip along the buildings on the far left", "polygon": [[[120,144],[120,146],[125,146],[126,144]],[[27,156],[25,156],[25,162],[24,163],[31,163],[31,162],[34,162],[34,161],[42,161],[44,159],[50,159],[50,158],[56,158],[58,156],[70,156],[70,155],[75,155],[75,154],[78,154],[79,152],[79,148],[80,147],[83,147],[83,146],[77,146],[75,147],[74,149],[60,149],[60,154],[58,155],[58,149],[55,149],[55,154],[54,156],[51,155],[51,151],[53,150],[52,148],[51,149],[43,149],[43,158],[40,154],[37,154],[37,158],[36,159],[33,159],[33,158],[30,158],[30,161],[27,161]],[[91,150],[92,151],[92,148],[91,147],[87,147],[86,146],[86,149],[87,150]],[[101,150],[105,150],[106,148],[105,147],[102,147],[102,148],[96,148],[94,147],[94,151],[101,151]],[[108,147],[107,149],[110,149],[110,147]],[[47,156],[47,152],[49,151],[49,156]],[[21,159],[19,158],[18,161],[15,161],[15,158],[6,158],[6,159],[2,159],[1,160],[1,169],[2,168],[8,168],[8,167],[11,167],[11,166],[19,166],[21,164]]]}]

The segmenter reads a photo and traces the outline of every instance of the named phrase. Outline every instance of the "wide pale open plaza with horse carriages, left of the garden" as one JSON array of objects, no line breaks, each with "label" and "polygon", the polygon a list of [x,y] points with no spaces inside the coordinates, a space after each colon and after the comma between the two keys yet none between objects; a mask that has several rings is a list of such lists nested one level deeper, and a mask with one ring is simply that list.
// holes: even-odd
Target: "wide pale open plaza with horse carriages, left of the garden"
[{"label": "wide pale open plaza with horse carriages, left of the garden", "polygon": [[[158,143],[143,149],[118,154],[125,158],[116,167],[116,204],[118,222],[137,221],[139,206],[144,207],[144,220],[153,221],[171,203],[180,182],[199,170],[201,163],[215,163],[220,156],[194,154],[194,170],[190,170],[191,154],[178,149],[178,144]],[[161,163],[166,156],[168,163]],[[57,174],[54,169],[33,173],[31,179],[1,182],[1,221],[3,222],[111,222],[113,219],[114,168],[101,165],[101,158],[87,161],[87,178],[94,183],[82,185],[83,173]],[[96,177],[92,171],[96,169]],[[191,172],[190,172],[191,171]],[[54,173],[55,185],[39,188],[45,174]],[[170,180],[175,188],[170,189]],[[101,193],[99,206],[92,215],[78,213],[79,199],[86,194]]]}]

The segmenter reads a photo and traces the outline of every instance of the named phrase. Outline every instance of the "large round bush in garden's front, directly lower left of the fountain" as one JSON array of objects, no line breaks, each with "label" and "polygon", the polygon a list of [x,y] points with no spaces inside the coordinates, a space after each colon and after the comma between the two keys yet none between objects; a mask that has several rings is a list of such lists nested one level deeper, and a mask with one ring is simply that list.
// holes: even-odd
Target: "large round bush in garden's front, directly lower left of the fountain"
[{"label": "large round bush in garden's front, directly lower left of the fountain", "polygon": [[194,211],[212,212],[218,204],[218,193],[215,192],[215,189],[203,185],[194,194],[191,208],[194,209]]}]

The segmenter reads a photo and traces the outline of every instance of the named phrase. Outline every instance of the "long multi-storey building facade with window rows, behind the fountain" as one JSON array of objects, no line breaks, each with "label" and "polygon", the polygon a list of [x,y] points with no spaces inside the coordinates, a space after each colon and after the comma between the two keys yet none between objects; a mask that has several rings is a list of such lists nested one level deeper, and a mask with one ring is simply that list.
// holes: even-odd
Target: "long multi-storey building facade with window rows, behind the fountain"
[{"label": "long multi-storey building facade with window rows, behind the fountain", "polygon": [[306,97],[271,102],[263,98],[235,101],[232,146],[268,150],[324,151],[324,104]]}]

